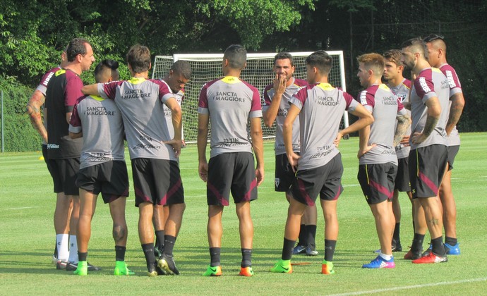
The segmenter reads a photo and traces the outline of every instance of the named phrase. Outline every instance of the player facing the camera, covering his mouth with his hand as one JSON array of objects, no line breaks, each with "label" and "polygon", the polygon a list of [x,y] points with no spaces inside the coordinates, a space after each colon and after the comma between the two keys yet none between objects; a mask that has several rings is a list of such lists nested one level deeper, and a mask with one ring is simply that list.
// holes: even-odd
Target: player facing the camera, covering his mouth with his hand
[{"label": "player facing the camera, covering his mouth with his hand", "polygon": [[[275,139],[275,191],[286,192],[286,199],[289,201],[287,190],[294,179],[294,171],[287,161],[286,149],[284,149],[284,140],[282,139],[282,124],[289,110],[289,99],[302,87],[308,85],[305,80],[293,77],[294,62],[291,54],[281,52],[274,57],[273,70],[276,74],[275,79],[270,85],[267,85],[263,92],[263,118],[264,123],[269,128],[276,122],[276,139]],[[293,126],[293,149],[299,153],[299,119],[296,118]],[[315,256],[316,252],[315,235],[316,235],[316,205],[306,208],[301,218],[299,229],[298,245],[294,247],[293,254],[306,254]]]}]

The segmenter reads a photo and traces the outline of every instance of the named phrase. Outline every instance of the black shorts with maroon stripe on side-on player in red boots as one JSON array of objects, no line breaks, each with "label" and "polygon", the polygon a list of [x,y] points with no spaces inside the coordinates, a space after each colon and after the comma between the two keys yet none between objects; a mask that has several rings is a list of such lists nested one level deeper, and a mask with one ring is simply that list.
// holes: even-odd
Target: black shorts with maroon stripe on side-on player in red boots
[{"label": "black shorts with maroon stripe on side-on player in red boots", "polygon": [[447,164],[447,147],[434,144],[409,152],[409,180],[413,198],[435,197]]}]

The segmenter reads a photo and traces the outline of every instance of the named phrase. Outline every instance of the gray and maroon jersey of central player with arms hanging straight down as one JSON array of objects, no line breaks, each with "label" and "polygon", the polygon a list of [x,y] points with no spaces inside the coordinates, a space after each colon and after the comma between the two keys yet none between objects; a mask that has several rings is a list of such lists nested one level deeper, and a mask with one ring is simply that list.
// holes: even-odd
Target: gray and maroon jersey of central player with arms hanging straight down
[{"label": "gray and maroon jersey of central player with arms hanging straight down", "polygon": [[255,87],[233,76],[212,80],[201,89],[198,113],[210,115],[210,157],[227,152],[252,153],[248,122],[262,117]]}]

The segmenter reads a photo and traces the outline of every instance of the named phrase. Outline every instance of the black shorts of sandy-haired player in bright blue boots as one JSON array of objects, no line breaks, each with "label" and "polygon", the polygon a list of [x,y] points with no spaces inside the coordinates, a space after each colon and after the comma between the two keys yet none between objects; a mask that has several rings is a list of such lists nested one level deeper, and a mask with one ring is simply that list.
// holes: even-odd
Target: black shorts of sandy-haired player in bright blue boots
[{"label": "black shorts of sandy-haired player in bright blue boots", "polygon": [[394,195],[394,180],[397,166],[390,162],[386,164],[359,165],[360,187],[368,204],[379,204],[385,200],[392,201]]}]

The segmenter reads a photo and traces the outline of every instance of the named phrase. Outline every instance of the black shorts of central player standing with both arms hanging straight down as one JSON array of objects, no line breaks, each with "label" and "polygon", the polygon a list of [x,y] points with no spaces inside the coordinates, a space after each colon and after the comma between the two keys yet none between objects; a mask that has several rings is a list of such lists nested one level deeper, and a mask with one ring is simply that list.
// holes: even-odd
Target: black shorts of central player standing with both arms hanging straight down
[{"label": "black shorts of central player standing with both arms hanging straight down", "polygon": [[206,183],[208,205],[228,206],[230,192],[236,204],[257,199],[253,154],[230,152],[210,158]]}]

